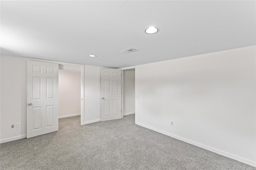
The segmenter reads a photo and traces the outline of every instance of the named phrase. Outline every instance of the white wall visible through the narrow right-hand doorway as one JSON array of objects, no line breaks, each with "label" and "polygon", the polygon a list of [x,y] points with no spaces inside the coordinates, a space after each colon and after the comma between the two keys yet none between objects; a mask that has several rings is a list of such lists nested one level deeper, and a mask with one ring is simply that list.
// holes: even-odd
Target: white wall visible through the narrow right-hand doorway
[{"label": "white wall visible through the narrow right-hand doorway", "polygon": [[124,116],[135,112],[135,69],[124,70]]}]

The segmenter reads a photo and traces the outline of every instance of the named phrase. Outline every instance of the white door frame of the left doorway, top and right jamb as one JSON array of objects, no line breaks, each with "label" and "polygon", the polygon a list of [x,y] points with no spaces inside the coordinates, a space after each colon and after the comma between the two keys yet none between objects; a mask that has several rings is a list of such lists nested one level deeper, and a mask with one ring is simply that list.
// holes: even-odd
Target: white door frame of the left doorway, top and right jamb
[{"label": "white door frame of the left doorway, top and right jamb", "polygon": [[81,125],[84,125],[84,65],[73,64],[73,63],[63,63],[58,61],[49,61],[44,59],[28,59],[28,60],[58,63],[59,69],[61,70],[81,71],[81,120],[80,121],[81,121]]}]

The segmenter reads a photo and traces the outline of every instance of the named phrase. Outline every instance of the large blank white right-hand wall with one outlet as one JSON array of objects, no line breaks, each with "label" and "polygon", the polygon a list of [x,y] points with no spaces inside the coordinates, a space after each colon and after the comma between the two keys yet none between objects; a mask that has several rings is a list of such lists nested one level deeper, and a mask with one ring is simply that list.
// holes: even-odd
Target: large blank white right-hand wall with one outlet
[{"label": "large blank white right-hand wall with one outlet", "polygon": [[255,166],[255,50],[136,66],[137,124]]}]

